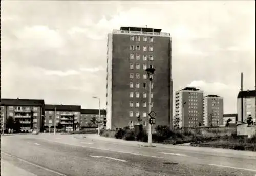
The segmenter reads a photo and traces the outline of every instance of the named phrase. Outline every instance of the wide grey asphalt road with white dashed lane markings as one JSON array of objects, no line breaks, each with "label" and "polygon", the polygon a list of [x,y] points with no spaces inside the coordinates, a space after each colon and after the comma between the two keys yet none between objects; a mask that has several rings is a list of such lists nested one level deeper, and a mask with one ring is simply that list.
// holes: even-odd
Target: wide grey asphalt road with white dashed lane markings
[{"label": "wide grey asphalt road with white dashed lane markings", "polygon": [[256,175],[256,152],[83,136],[1,137],[1,175]]}]

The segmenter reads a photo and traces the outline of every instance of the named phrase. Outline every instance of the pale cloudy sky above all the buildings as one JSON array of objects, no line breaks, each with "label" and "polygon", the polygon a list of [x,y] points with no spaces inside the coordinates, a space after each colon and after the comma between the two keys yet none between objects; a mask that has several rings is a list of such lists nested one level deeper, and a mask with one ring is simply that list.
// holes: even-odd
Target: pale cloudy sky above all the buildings
[{"label": "pale cloudy sky above all the buildings", "polygon": [[237,113],[255,89],[254,1],[1,1],[1,98],[106,108],[107,34],[160,28],[173,39],[175,91],[198,87]]}]

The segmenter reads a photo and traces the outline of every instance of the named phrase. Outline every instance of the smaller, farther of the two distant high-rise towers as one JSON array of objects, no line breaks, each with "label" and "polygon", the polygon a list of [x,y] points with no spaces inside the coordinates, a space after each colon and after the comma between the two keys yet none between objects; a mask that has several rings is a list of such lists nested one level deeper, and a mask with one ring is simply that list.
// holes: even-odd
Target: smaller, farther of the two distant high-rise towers
[{"label": "smaller, farther of the two distant high-rise towers", "polygon": [[203,99],[204,126],[223,125],[223,97],[207,95]]}]

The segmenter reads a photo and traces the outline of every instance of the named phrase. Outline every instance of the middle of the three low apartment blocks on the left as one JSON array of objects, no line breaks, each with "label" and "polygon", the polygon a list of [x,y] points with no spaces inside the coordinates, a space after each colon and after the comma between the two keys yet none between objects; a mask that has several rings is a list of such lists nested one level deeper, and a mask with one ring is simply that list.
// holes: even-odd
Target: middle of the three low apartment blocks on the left
[{"label": "middle of the three low apartment blocks on the left", "polygon": [[75,119],[75,129],[80,127],[81,106],[74,105],[45,105],[45,128],[54,128],[54,116],[56,126],[60,123],[62,127],[73,130],[73,117]]}]

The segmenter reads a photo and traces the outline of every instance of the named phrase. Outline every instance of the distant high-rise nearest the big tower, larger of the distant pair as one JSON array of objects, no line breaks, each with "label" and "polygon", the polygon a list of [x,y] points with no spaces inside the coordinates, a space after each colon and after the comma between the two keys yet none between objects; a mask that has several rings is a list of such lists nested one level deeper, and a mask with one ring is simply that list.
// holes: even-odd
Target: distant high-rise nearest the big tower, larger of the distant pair
[{"label": "distant high-rise nearest the big tower, larger of the distant pair", "polygon": [[197,127],[203,125],[203,91],[194,87],[185,87],[176,91],[175,116],[179,118],[179,127]]}]

